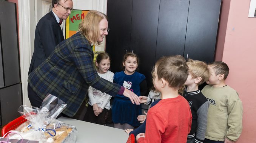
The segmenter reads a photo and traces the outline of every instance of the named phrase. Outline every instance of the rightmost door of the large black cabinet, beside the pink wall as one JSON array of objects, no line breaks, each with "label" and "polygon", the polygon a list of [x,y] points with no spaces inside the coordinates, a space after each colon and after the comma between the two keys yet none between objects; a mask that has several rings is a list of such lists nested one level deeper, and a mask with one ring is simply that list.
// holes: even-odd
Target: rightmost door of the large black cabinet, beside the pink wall
[{"label": "rightmost door of the large black cabinet, beside the pink wall", "polygon": [[221,0],[190,0],[184,57],[212,62]]}]

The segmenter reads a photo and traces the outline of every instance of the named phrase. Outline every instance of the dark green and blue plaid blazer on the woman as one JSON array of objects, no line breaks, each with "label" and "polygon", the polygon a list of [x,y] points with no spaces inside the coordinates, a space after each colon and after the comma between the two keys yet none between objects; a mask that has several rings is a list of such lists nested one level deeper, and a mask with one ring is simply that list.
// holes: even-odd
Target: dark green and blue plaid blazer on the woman
[{"label": "dark green and blue plaid blazer on the woman", "polygon": [[81,33],[60,42],[54,52],[28,77],[28,84],[44,99],[47,93],[67,104],[63,111],[74,116],[92,86],[115,96],[121,86],[100,78],[93,65],[91,45]]}]

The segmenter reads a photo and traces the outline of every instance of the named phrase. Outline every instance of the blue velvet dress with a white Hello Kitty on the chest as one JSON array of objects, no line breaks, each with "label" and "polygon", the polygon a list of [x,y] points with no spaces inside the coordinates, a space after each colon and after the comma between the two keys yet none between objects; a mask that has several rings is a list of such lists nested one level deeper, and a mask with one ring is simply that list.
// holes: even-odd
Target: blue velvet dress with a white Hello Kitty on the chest
[{"label": "blue velvet dress with a white Hello Kitty on the chest", "polygon": [[[145,76],[139,72],[126,75],[124,71],[116,72],[114,81],[140,96],[140,83],[145,80]],[[112,120],[114,123],[128,123],[131,126],[139,126],[137,116],[141,115],[141,105],[136,105],[123,95],[116,95],[112,105]]]}]

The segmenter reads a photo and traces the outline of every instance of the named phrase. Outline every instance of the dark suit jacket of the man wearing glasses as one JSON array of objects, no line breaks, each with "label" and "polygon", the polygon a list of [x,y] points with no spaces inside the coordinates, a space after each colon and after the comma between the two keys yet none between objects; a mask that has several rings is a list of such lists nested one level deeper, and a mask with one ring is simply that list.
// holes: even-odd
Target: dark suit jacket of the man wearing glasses
[{"label": "dark suit jacket of the man wearing glasses", "polygon": [[34,53],[29,66],[32,72],[54,51],[56,45],[64,40],[63,32],[57,22],[53,12],[43,16],[35,28]]}]

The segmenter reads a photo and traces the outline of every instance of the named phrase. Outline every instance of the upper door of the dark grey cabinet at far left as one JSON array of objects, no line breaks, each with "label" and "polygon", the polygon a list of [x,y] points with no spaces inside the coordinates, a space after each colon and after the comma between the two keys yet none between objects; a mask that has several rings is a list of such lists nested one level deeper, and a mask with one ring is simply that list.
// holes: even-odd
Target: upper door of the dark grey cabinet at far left
[{"label": "upper door of the dark grey cabinet at far left", "polygon": [[16,5],[0,1],[0,35],[2,67],[0,85],[9,86],[20,82],[19,47],[17,38]]}]

